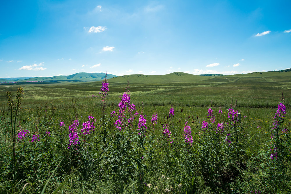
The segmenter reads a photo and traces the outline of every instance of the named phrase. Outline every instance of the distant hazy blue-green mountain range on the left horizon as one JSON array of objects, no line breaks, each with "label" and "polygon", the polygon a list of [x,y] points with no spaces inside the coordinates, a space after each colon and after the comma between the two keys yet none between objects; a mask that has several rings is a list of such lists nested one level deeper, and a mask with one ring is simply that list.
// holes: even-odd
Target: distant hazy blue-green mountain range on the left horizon
[{"label": "distant hazy blue-green mountain range on the left horizon", "polygon": [[[107,74],[107,78],[116,75]],[[10,77],[0,78],[0,82],[27,82],[27,81],[100,81],[105,78],[105,73],[75,73],[72,75],[59,75],[53,77]]]}]

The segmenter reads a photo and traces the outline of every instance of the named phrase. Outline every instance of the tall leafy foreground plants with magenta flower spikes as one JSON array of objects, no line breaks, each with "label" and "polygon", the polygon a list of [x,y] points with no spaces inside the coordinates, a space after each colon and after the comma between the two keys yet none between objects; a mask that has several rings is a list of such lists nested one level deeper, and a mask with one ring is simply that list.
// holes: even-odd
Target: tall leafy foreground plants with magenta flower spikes
[{"label": "tall leafy foreground plants with magenta flower spikes", "polygon": [[129,83],[120,102],[108,105],[109,86],[105,76],[95,112],[79,115],[72,99],[59,110],[53,103],[32,108],[21,115],[27,122],[19,119],[22,88],[15,100],[7,92],[1,193],[291,192],[283,94],[264,129],[267,140],[253,153],[247,144],[254,137],[236,106],[207,107],[202,119],[187,108],[159,112],[143,102],[136,107]]}]

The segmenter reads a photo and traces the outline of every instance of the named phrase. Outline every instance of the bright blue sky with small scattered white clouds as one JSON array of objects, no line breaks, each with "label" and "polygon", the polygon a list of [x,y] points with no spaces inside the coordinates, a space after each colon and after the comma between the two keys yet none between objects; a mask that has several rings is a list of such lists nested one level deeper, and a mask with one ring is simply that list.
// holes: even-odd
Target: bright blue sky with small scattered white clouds
[{"label": "bright blue sky with small scattered white clouds", "polygon": [[1,1],[0,77],[291,68],[291,1]]}]

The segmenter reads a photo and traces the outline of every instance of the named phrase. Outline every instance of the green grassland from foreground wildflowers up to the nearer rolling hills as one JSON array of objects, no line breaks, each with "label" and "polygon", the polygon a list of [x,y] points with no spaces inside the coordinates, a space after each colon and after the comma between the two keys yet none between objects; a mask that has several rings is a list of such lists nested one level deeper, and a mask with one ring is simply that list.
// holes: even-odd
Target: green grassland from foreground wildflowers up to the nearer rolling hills
[{"label": "green grassland from foreground wildflowers up to the nearer rolling hills", "polygon": [[0,85],[0,191],[291,192],[290,72],[261,73]]}]

